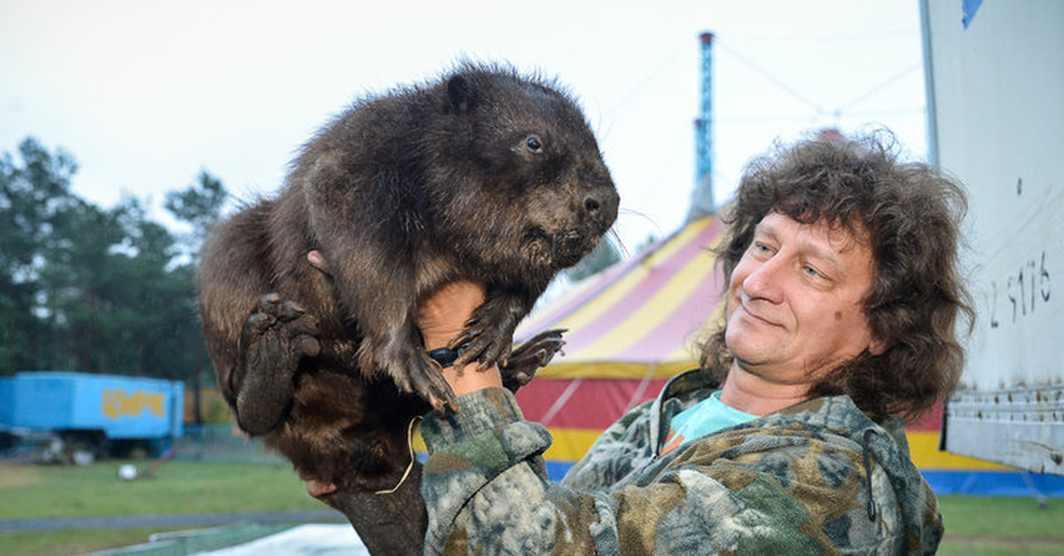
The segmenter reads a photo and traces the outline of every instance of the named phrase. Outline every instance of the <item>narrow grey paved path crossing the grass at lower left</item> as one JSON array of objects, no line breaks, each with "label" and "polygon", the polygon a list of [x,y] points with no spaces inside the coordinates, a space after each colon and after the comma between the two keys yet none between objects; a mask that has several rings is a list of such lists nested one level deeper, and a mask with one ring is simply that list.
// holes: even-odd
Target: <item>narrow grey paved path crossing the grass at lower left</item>
[{"label": "narrow grey paved path crossing the grass at lower left", "polygon": [[[166,516],[113,516],[106,518],[49,518],[0,520],[0,534],[61,529],[132,527],[203,527],[231,523],[347,523],[332,509],[252,511],[245,513],[173,513]],[[348,525],[350,528],[350,525]]]}]

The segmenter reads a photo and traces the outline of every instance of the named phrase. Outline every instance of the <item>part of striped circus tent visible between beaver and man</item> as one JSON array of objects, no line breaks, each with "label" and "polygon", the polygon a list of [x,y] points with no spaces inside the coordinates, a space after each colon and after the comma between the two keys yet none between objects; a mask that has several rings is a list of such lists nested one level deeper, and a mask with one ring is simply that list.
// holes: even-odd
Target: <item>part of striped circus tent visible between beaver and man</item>
[{"label": "part of striped circus tent visible between beaver and man", "polygon": [[560,478],[626,410],[698,366],[697,339],[724,285],[709,248],[716,217],[687,223],[636,256],[581,282],[533,311],[515,340],[566,328],[564,355],[517,392],[525,417],[554,438],[545,454]]}]

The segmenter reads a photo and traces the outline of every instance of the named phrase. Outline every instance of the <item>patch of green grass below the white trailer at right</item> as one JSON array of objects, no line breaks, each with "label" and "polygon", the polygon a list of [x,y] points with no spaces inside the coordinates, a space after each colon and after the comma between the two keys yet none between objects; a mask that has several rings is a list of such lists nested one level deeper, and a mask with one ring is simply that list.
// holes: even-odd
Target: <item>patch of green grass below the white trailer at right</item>
[{"label": "patch of green grass below the white trailer at right", "polygon": [[1060,556],[1064,500],[942,496],[943,556]]}]

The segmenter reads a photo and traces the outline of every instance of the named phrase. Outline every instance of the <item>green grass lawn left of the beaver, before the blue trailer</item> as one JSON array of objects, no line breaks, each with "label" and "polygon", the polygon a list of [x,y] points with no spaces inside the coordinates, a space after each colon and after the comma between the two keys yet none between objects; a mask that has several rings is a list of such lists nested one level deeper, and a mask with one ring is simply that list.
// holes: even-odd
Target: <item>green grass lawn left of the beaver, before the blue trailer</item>
[{"label": "green grass lawn left of the beaver, before the blue trailer", "polygon": [[[169,461],[154,476],[118,481],[107,460],[85,467],[0,464],[0,519],[325,509],[287,465]],[[138,470],[147,461],[134,462]],[[167,529],[0,534],[0,556],[84,554],[148,541]]]}]

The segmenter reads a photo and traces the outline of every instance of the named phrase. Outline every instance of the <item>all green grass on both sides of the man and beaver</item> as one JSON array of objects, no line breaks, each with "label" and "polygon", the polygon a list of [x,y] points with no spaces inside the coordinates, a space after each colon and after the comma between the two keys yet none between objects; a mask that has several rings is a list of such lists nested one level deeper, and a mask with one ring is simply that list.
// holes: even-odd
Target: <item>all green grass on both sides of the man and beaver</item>
[{"label": "all green grass on both sides of the man and beaver", "polygon": [[[287,466],[170,461],[154,477],[117,478],[126,461],[86,467],[0,464],[0,519],[322,509]],[[139,469],[147,462],[136,462]],[[944,556],[1064,554],[1064,500],[943,496]],[[0,556],[83,554],[147,542],[165,529],[0,534]]]}]

